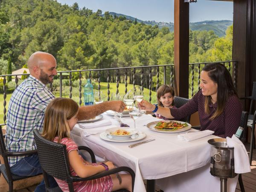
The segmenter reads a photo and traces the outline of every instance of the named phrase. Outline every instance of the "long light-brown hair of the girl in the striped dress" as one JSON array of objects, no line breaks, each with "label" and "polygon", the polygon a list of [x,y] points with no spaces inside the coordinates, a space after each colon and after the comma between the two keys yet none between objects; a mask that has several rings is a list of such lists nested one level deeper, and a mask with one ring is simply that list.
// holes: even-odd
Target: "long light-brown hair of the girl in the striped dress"
[{"label": "long light-brown hair of the girl in the striped dress", "polygon": [[50,141],[58,137],[58,143],[63,137],[70,137],[67,120],[76,115],[78,105],[72,99],[55,98],[46,108],[44,116],[44,130],[42,136]]}]

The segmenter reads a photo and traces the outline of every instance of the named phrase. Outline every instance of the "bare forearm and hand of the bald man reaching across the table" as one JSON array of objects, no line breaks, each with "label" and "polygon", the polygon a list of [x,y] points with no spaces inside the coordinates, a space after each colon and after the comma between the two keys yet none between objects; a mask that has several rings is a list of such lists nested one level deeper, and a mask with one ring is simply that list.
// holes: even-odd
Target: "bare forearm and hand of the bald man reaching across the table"
[{"label": "bare forearm and hand of the bald man reaching across the table", "polygon": [[125,104],[122,101],[109,101],[97,105],[81,106],[78,111],[78,120],[91,119],[108,110],[122,112],[124,108]]}]

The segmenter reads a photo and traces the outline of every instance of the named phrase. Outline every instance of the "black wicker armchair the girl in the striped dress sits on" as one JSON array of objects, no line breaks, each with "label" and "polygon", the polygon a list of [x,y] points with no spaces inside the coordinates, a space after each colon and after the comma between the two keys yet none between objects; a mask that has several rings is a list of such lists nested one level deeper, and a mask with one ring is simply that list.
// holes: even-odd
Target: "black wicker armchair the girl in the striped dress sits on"
[{"label": "black wicker armchair the girl in the striped dress sits on", "polygon": [[[117,167],[117,168],[114,168],[105,172],[101,172],[86,178],[72,176],[70,173],[70,166],[69,166],[69,160],[67,157],[66,145],[63,145],[61,143],[55,143],[55,142],[44,139],[44,137],[42,137],[38,132],[38,130],[36,129],[34,129],[34,136],[35,136],[35,143],[38,149],[39,162],[43,169],[43,175],[44,175],[47,192],[53,192],[53,191],[57,192],[57,191],[61,191],[61,189],[59,187],[50,189],[47,177],[45,177],[46,173],[48,175],[51,175],[52,177],[56,177],[58,179],[67,181],[70,192],[73,192],[74,191],[73,182],[93,180],[100,177],[104,177],[106,175],[111,175],[117,172],[125,171],[131,175],[132,189],[134,189],[135,174],[131,168],[125,167],[125,166]],[[93,154],[93,151],[90,148],[85,146],[79,146],[79,150],[86,150],[87,152],[89,152],[92,163],[96,162],[95,155]],[[119,192],[121,191],[125,192],[127,190],[123,189],[123,190],[120,190]]]}]

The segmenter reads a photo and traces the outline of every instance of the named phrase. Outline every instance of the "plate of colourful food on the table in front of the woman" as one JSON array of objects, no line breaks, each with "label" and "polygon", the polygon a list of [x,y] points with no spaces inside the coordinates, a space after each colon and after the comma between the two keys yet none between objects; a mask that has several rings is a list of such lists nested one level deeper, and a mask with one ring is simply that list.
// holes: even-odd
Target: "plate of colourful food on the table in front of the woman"
[{"label": "plate of colourful food on the table in front of the woman", "polygon": [[162,133],[178,133],[191,129],[191,125],[182,121],[162,120],[148,123],[147,128]]}]

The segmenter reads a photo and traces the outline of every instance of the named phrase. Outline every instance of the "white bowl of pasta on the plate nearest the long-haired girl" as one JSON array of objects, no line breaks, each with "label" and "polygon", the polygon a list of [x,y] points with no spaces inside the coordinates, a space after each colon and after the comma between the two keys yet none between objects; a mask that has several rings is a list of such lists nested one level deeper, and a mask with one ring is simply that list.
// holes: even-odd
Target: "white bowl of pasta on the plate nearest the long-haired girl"
[{"label": "white bowl of pasta on the plate nearest the long-haired girl", "polygon": [[105,132],[115,140],[122,140],[122,139],[127,139],[133,136],[134,134],[137,134],[138,131],[133,128],[119,127],[119,128],[109,128]]}]

